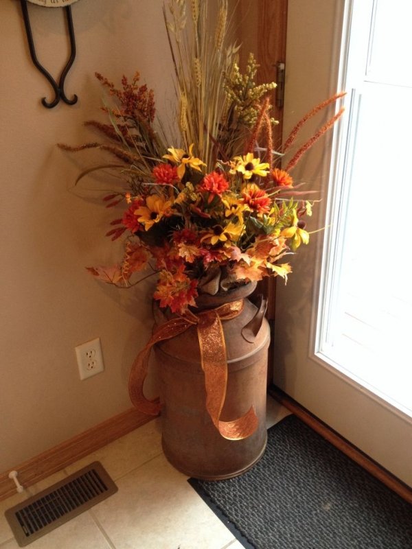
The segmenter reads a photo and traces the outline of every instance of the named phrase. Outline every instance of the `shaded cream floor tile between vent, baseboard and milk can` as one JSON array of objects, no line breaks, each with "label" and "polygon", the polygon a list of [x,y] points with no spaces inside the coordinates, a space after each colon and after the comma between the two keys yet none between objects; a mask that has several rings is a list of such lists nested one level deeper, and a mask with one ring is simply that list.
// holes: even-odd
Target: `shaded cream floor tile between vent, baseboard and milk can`
[{"label": "shaded cream floor tile between vent, baseboard and milk can", "polygon": [[76,473],[93,461],[100,461],[108,474],[117,480],[146,461],[161,454],[160,419],[153,419],[116,441],[66,467],[67,474]]}]

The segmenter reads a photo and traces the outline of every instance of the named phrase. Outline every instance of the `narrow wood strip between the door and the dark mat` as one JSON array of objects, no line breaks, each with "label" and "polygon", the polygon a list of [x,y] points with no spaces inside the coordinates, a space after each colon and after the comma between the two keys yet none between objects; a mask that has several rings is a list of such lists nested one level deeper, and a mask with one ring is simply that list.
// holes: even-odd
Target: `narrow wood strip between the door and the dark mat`
[{"label": "narrow wood strip between the door and the dark mat", "polygon": [[363,469],[380,480],[380,482],[385,484],[389,489],[396,492],[407,502],[412,503],[412,488],[407,486],[407,484],[404,484],[402,480],[396,478],[396,476],[384,469],[381,465],[376,463],[376,461],[369,458],[369,456],[364,454],[352,443],[343,439],[339,433],[332,430],[328,425],[323,423],[323,421],[311,414],[306,408],[286,395],[286,393],[278,387],[271,385],[268,388],[268,394],[282,404],[282,406],[288,408],[290,412],[293,412],[301,421],[304,421],[304,423],[309,425],[310,428],[323,436],[324,439],[340,449],[343,454],[346,454],[349,458],[354,460],[354,462],[358,463],[358,465],[361,465]]}]

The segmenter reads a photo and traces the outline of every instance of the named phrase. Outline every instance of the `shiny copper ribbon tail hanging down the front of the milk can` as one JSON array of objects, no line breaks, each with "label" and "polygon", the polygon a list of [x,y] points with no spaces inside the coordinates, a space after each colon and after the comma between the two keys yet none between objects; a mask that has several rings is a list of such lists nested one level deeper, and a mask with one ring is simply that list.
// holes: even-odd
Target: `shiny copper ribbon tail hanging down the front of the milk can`
[{"label": "shiny copper ribbon tail hanging down the front of the milk can", "polygon": [[[236,314],[239,314],[239,310]],[[198,315],[197,325],[202,369],[205,373],[207,412],[220,434],[229,440],[246,439],[258,427],[258,417],[253,407],[244,416],[233,421],[220,420],[227,390],[225,334],[220,315],[222,318],[231,318],[236,314],[233,310],[225,314],[225,310],[210,309]]]}]

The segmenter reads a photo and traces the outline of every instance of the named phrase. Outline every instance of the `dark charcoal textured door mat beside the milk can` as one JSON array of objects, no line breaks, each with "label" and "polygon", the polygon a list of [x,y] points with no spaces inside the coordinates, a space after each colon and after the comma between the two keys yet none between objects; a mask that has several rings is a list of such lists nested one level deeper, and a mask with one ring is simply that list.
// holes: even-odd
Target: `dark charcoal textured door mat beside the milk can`
[{"label": "dark charcoal textured door mat beside the milk can", "polygon": [[247,548],[412,548],[412,506],[293,415],[247,473],[189,482]]}]

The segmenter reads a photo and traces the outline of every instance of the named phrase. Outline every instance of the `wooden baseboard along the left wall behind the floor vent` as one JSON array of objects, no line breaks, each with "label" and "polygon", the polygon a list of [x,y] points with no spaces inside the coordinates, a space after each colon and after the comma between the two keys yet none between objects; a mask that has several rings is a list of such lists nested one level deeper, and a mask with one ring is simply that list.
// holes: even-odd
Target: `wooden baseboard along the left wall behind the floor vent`
[{"label": "wooden baseboard along the left wall behind the floor vent", "polygon": [[[20,484],[25,488],[30,487],[152,419],[153,416],[130,408],[20,465],[11,467],[10,471],[16,470]],[[0,501],[16,493],[14,481],[8,478],[10,471],[0,474]]]}]

